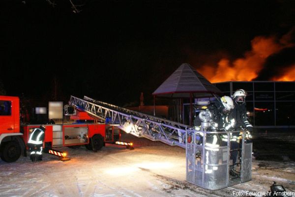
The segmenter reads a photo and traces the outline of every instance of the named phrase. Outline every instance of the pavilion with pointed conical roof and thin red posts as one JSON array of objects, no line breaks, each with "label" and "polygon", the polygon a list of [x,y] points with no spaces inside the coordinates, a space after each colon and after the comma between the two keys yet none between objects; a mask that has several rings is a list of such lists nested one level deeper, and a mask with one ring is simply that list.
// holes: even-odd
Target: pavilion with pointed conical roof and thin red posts
[{"label": "pavilion with pointed conical roof and thin red posts", "polygon": [[192,126],[193,98],[209,98],[214,94],[221,95],[221,91],[211,84],[203,75],[197,72],[190,64],[181,64],[170,77],[166,79],[153,93],[154,115],[155,97],[190,100],[189,122]]}]

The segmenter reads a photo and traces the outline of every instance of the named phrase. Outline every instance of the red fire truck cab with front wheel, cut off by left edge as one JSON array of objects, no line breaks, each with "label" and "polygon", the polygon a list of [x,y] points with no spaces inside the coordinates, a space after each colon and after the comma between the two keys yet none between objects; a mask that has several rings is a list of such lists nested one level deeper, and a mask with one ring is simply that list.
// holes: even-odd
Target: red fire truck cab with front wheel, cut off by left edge
[{"label": "red fire truck cab with front wheel, cut off by left edge", "polygon": [[18,97],[0,96],[0,158],[15,162],[26,154],[20,132],[20,101]]}]

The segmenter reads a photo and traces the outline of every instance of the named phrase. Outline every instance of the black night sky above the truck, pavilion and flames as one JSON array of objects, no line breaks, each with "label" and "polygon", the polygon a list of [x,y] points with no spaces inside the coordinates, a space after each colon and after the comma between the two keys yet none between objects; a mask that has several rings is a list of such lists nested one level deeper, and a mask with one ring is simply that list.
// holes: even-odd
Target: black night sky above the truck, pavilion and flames
[{"label": "black night sky above the truck, pavilion and flames", "polygon": [[236,69],[235,59],[248,58],[257,36],[288,37],[288,46],[264,57],[256,80],[295,65],[295,1],[89,0],[78,14],[68,0],[55,3],[1,1],[0,82],[7,95],[48,101],[56,84],[58,100],[88,95],[124,105],[144,92],[151,104],[151,93],[181,63],[206,77],[223,58]]}]

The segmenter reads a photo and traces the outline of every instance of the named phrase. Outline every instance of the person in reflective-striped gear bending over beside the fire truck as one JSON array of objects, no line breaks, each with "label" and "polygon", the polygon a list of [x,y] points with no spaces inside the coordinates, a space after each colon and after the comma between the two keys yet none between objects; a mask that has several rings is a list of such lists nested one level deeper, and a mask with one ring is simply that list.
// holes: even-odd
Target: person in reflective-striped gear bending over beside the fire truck
[{"label": "person in reflective-striped gear bending over beside the fire truck", "polygon": [[44,140],[45,128],[40,126],[40,128],[35,128],[29,136],[28,146],[30,150],[30,160],[40,161],[42,160],[42,149]]}]

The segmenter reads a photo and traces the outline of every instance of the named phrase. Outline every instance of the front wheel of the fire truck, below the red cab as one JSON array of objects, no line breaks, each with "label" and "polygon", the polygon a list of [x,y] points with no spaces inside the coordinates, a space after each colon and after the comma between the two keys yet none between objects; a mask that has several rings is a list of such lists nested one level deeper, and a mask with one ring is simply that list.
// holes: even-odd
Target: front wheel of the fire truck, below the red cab
[{"label": "front wheel of the fire truck, below the red cab", "polygon": [[4,162],[15,162],[21,156],[21,146],[17,141],[8,141],[3,144],[1,159]]}]

